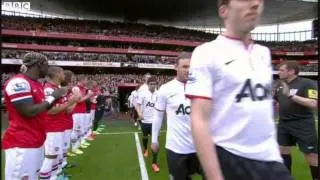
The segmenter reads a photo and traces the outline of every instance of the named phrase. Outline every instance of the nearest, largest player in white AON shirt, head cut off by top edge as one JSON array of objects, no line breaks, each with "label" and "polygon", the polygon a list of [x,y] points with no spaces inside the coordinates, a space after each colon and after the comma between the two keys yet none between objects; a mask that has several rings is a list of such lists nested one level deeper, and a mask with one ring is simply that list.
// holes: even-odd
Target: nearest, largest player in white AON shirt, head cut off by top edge
[{"label": "nearest, largest player in white AON shirt, head cut off by top edge", "polygon": [[186,94],[209,180],[292,179],[276,140],[270,50],[250,37],[263,6],[263,0],[218,0],[226,32],[192,54]]}]

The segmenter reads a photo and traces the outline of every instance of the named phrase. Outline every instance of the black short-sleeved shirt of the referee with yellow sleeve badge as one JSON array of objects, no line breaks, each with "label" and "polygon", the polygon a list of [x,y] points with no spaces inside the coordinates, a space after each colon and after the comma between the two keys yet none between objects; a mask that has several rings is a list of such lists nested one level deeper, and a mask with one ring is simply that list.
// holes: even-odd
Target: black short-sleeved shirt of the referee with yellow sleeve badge
[{"label": "black short-sleeved shirt of the referee with yellow sleeve badge", "polygon": [[[318,87],[310,79],[297,77],[288,83],[291,95],[304,98],[318,99]],[[281,121],[314,120],[313,110],[302,106],[292,99],[283,95],[282,90],[277,88],[275,98],[279,103],[279,116]]]}]

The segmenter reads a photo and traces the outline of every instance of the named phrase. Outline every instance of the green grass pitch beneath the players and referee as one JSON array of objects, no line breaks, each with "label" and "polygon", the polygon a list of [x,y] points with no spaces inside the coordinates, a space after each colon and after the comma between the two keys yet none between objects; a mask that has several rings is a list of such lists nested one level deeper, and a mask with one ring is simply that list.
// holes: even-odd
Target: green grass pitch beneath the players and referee
[{"label": "green grass pitch beneath the players and referee", "polygon": [[[69,158],[69,162],[77,164],[76,168],[68,169],[74,180],[140,180],[140,166],[136,141],[133,132],[139,132],[132,122],[124,120],[104,121],[105,134],[98,135],[84,154]],[[163,127],[165,129],[165,127]],[[141,138],[141,134],[139,134]],[[160,172],[151,170],[152,156],[144,158],[150,180],[165,180],[168,178],[166,152],[164,149],[165,132],[160,135],[159,166]],[[140,139],[141,143],[141,139]],[[150,141],[149,141],[150,143]],[[3,152],[3,151],[2,151]],[[304,156],[297,148],[293,149],[293,176],[295,180],[311,179],[309,168]],[[4,153],[2,153],[2,177],[4,175]],[[193,178],[200,180],[199,176]]]}]

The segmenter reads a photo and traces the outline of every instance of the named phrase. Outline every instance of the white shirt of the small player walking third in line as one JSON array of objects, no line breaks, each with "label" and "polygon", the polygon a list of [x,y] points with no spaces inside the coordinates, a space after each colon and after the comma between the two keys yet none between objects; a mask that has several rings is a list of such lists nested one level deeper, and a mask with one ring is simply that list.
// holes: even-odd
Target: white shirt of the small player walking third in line
[{"label": "white shirt of the small player walking third in line", "polygon": [[143,123],[152,123],[152,118],[155,114],[154,105],[157,101],[157,92],[151,92],[149,90],[142,91],[137,99],[137,104],[140,104],[140,108],[143,115]]}]

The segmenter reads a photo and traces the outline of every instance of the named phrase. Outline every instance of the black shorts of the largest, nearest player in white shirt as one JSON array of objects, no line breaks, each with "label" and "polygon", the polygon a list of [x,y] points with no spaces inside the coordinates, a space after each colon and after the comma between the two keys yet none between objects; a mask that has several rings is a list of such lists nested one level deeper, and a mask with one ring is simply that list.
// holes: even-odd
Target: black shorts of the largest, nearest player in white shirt
[{"label": "black shorts of the largest, nearest player in white shirt", "polygon": [[265,162],[234,155],[216,146],[220,167],[226,180],[293,180],[280,162]]}]

